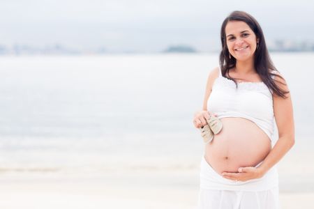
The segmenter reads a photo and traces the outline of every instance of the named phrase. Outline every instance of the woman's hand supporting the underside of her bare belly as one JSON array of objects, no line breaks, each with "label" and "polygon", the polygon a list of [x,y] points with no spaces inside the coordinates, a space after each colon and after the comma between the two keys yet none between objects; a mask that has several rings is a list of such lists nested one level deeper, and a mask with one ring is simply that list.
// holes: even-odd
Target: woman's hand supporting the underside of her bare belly
[{"label": "woman's hand supporting the underside of her bare belly", "polygon": [[254,178],[262,178],[264,175],[263,172],[256,167],[241,167],[238,169],[239,172],[223,172],[222,175],[224,178],[235,180],[235,181],[246,181]]}]

